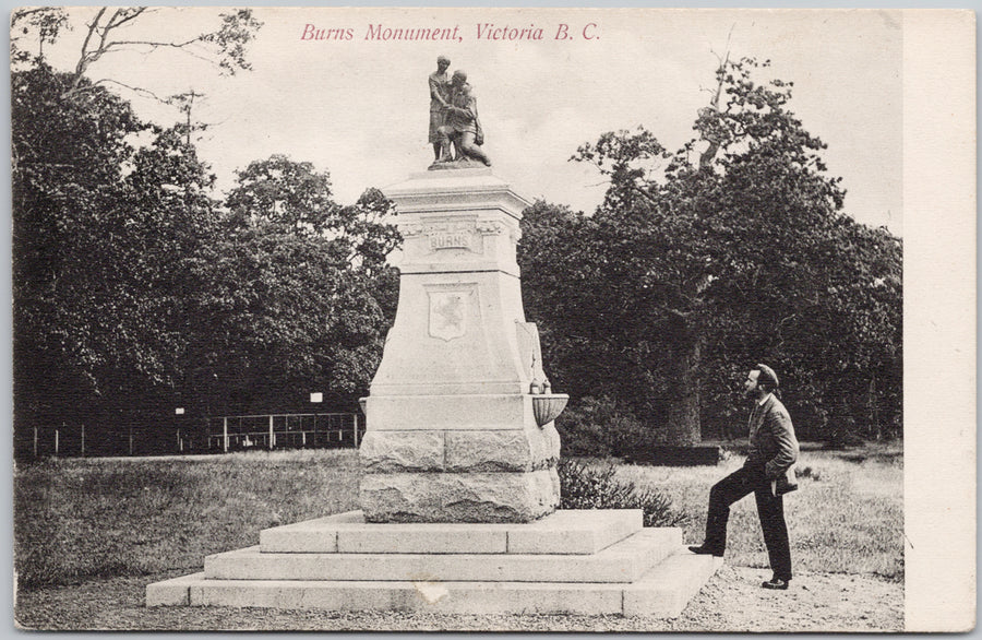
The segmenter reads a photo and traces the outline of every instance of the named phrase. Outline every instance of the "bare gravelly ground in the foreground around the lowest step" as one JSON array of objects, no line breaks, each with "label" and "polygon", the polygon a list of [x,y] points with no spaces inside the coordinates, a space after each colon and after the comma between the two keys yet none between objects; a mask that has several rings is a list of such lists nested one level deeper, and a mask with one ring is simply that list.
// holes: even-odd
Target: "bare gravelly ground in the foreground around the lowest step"
[{"label": "bare gravelly ground in the foreground around the lowest step", "polygon": [[120,630],[897,631],[903,585],[869,576],[804,573],[766,591],[763,569],[724,566],[674,620],[620,616],[452,616],[143,606],[146,584],[183,572],[91,580],[21,593],[17,625]]}]

